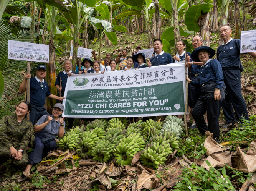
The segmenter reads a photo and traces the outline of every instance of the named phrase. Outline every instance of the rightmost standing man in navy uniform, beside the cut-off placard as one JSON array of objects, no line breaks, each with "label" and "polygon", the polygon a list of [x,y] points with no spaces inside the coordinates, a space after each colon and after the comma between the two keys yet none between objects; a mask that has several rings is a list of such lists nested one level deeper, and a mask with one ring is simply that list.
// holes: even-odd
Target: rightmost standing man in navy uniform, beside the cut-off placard
[{"label": "rightmost standing man in navy uniform, beside the cut-off placard", "polygon": [[[220,37],[223,44],[217,49],[217,60],[220,62],[227,95],[222,102],[223,112],[226,118],[227,127],[230,123],[235,123],[236,119],[247,119],[248,113],[246,103],[241,93],[241,72],[243,66],[240,61],[240,39],[232,39],[231,28],[223,25],[220,28]],[[249,55],[256,58],[256,52],[249,52]],[[236,119],[233,108],[235,110]]]}]

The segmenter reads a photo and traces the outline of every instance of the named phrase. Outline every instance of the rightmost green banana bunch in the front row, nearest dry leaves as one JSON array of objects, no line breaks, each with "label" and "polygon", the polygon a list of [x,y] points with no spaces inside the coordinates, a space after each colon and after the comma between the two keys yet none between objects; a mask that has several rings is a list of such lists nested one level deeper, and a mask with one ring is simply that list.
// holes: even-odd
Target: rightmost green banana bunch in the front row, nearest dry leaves
[{"label": "rightmost green banana bunch in the front row, nearest dry leaves", "polygon": [[140,162],[144,166],[158,168],[160,164],[164,165],[166,158],[164,154],[157,153],[157,151],[153,151],[153,149],[145,148],[140,154]]}]

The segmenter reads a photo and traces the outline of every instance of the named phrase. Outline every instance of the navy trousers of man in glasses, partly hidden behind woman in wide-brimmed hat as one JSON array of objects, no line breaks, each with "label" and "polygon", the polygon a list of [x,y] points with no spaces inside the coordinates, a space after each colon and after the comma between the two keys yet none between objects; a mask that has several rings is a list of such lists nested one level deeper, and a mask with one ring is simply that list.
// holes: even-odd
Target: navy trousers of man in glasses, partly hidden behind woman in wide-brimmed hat
[{"label": "navy trousers of man in glasses, partly hidden behind woman in wide-brimmed hat", "polygon": [[[190,80],[192,81],[200,81],[199,76],[193,76],[190,77]],[[198,98],[201,95],[201,87],[192,86],[191,84],[188,84],[188,106],[191,108],[194,108]]]}]

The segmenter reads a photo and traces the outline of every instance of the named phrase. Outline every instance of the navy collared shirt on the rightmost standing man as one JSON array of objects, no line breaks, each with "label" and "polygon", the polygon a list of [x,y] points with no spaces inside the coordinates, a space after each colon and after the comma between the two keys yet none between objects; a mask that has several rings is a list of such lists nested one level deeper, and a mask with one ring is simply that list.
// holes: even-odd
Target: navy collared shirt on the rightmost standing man
[{"label": "navy collared shirt on the rightmost standing man", "polygon": [[217,60],[222,68],[240,68],[240,39],[228,40],[217,49]]}]

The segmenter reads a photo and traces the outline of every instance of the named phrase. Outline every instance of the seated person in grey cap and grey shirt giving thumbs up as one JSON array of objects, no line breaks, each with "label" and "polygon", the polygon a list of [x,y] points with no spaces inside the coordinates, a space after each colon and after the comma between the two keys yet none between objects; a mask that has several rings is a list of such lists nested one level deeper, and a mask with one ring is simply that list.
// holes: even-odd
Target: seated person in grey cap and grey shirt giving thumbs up
[{"label": "seated person in grey cap and grey shirt giving thumbs up", "polygon": [[55,104],[53,106],[52,115],[43,115],[36,123],[34,127],[35,140],[33,145],[33,151],[30,153],[28,159],[28,165],[26,166],[23,176],[31,177],[30,169],[33,165],[41,162],[43,154],[47,154],[57,148],[55,141],[56,136],[63,137],[65,134],[65,121],[64,117],[61,118],[64,105]]}]

